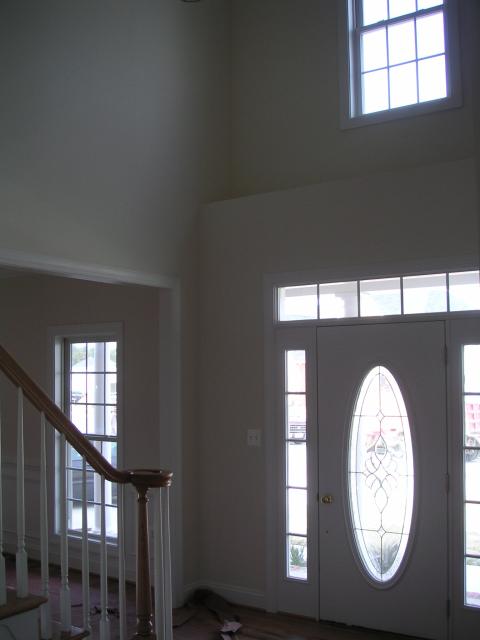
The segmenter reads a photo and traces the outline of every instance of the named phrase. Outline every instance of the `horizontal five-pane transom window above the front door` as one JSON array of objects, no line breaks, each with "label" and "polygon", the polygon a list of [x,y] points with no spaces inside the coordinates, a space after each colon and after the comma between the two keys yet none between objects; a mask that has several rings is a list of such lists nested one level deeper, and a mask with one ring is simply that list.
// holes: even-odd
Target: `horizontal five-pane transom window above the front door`
[{"label": "horizontal five-pane transom window above the front door", "polygon": [[480,309],[479,271],[452,271],[276,287],[278,322]]}]

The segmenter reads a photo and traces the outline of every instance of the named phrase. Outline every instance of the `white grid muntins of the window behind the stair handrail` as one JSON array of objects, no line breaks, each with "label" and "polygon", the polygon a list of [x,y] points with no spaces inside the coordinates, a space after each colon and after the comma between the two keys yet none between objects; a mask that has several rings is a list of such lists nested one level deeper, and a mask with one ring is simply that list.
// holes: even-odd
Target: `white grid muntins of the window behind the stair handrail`
[{"label": "white grid muntins of the window behind the stair handrail", "polygon": [[[72,364],[72,351],[73,351],[73,346],[74,345],[85,345],[85,355],[86,355],[86,363],[85,363],[85,370],[84,371],[73,371],[73,366],[74,364]],[[101,369],[97,369],[96,367],[94,367],[93,369],[89,368],[89,364],[88,364],[88,359],[89,359],[89,347],[90,345],[98,345],[98,344],[103,344],[103,367]],[[116,357],[115,357],[115,369],[111,369],[108,368],[107,366],[107,353],[109,353],[109,349],[107,348],[107,345],[115,345],[115,352],[116,352]],[[64,340],[64,360],[65,360],[65,376],[64,376],[64,409],[65,409],[65,413],[67,414],[67,416],[71,419],[71,414],[72,414],[72,405],[77,405],[77,406],[84,406],[86,407],[85,413],[86,413],[86,422],[85,422],[85,432],[82,432],[82,435],[85,436],[85,438],[87,438],[87,440],[89,440],[93,446],[96,446],[97,443],[100,445],[99,447],[96,446],[96,448],[103,454],[103,444],[112,444],[112,445],[116,445],[116,452],[115,452],[115,458],[116,458],[116,464],[118,464],[118,431],[117,431],[117,427],[118,427],[118,339],[115,336],[102,336],[99,338],[95,338],[95,337],[75,337],[75,338],[66,338]],[[71,379],[72,379],[72,375],[83,375],[85,376],[85,386],[86,386],[86,401],[85,402],[73,402],[72,401],[72,385],[71,385]],[[88,392],[88,375],[102,375],[103,376],[103,399],[104,402],[89,402],[89,392]],[[107,377],[108,376],[115,376],[115,397],[117,402],[112,403],[112,402],[107,402]],[[103,422],[103,431],[106,431],[106,411],[107,408],[116,408],[117,412],[117,418],[116,418],[116,434],[115,435],[111,435],[111,434],[106,434],[106,433],[89,433],[88,431],[88,407],[90,406],[96,406],[96,407],[103,407],[104,408],[104,422]],[[78,500],[76,498],[73,497],[73,480],[72,480],[72,486],[70,486],[70,483],[68,482],[68,471],[83,471],[83,464],[80,467],[74,467],[72,464],[72,454],[77,454],[77,452],[75,451],[75,449],[69,444],[66,443],[66,452],[65,452],[65,473],[66,473],[66,479],[67,479],[67,514],[68,514],[68,523],[67,523],[67,528],[68,528],[68,532],[69,534],[72,535],[79,535],[79,533],[81,533],[81,523],[79,527],[73,527],[72,526],[72,520],[73,520],[73,505],[74,504],[79,504],[81,505],[82,500]],[[114,463],[114,456],[111,455],[111,464]],[[79,461],[81,462],[81,460]],[[115,465],[114,465],[115,466]],[[101,476],[94,472],[92,467],[90,465],[88,465],[88,463],[86,464],[86,472],[87,472],[87,478],[89,475],[93,476],[93,482],[101,482]],[[107,491],[107,488],[109,489]],[[110,483],[108,481],[105,482],[105,489],[106,489],[106,496],[109,494],[112,495],[112,501],[109,500],[109,497],[106,497],[105,502],[104,502],[104,507],[107,509],[106,514],[108,513],[108,509],[115,510],[115,514],[113,515],[113,517],[108,518],[108,521],[111,521],[110,524],[112,524],[113,526],[109,527],[109,522],[107,522],[107,538],[115,540],[117,538],[118,535],[118,531],[117,531],[117,505],[113,504],[113,495],[115,493],[114,490],[114,483]],[[82,488],[83,491],[83,488]],[[88,507],[90,508],[98,508],[101,507],[102,504],[99,501],[96,500],[88,500],[87,499],[87,509]],[[82,516],[83,517],[83,516]],[[95,517],[95,516],[94,516]],[[90,516],[87,516],[87,519],[90,519]],[[89,536],[91,536],[92,538],[98,538],[100,535],[100,524],[98,523],[98,526],[96,526],[97,523],[95,522],[95,526],[93,528],[93,530],[89,529]]]}]

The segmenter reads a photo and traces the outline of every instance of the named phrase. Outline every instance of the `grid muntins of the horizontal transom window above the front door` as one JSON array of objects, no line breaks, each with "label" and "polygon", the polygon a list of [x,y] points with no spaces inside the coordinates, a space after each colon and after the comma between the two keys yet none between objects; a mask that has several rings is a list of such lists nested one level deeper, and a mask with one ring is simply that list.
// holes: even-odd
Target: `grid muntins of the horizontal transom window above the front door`
[{"label": "grid muntins of the horizontal transom window above the front door", "polygon": [[[452,283],[451,283],[451,278],[450,276],[461,276],[462,274],[465,274],[466,276],[471,276],[472,281],[467,283],[467,286],[469,287],[474,287],[474,289],[472,289],[472,292],[470,295],[472,295],[473,293],[475,293],[477,295],[477,298],[479,299],[479,302],[476,302],[475,305],[471,306],[470,308],[461,308],[461,309],[453,309],[451,308],[452,306],[452,297],[457,295],[454,291],[453,291],[453,287],[452,287]],[[446,299],[447,299],[447,308],[446,311],[429,311],[429,312],[423,312],[423,313],[419,313],[419,314],[415,314],[415,313],[408,313],[406,314],[404,311],[404,295],[403,295],[403,279],[404,278],[410,278],[412,275],[415,276],[428,276],[428,275],[438,275],[438,276],[446,276],[446,280],[445,280],[445,292],[446,292]],[[356,309],[356,314],[351,314],[351,315],[344,315],[344,316],[339,316],[337,319],[338,320],[351,320],[351,319],[362,319],[362,318],[373,318],[376,316],[370,316],[370,315],[362,315],[361,314],[361,305],[360,305],[360,297],[361,297],[361,291],[360,291],[360,285],[363,282],[369,282],[369,281],[382,281],[382,280],[393,280],[394,278],[400,278],[400,313],[399,314],[380,314],[378,317],[398,317],[398,316],[408,316],[408,317],[414,317],[415,315],[428,315],[428,316],[434,316],[434,315],[438,315],[438,314],[457,314],[457,313],[463,313],[465,311],[479,311],[480,310],[480,271],[476,270],[476,269],[464,269],[464,270],[451,270],[448,272],[440,272],[440,271],[434,271],[434,272],[427,272],[427,273],[415,273],[415,274],[403,274],[403,275],[387,275],[387,276],[383,276],[383,277],[368,277],[368,278],[363,278],[363,279],[357,279],[356,283],[357,283],[357,309]],[[320,281],[320,284],[342,284],[343,282],[346,281],[350,281],[350,282],[355,282],[355,280],[353,279],[349,279],[349,278],[344,278],[342,280],[322,280]],[[309,282],[308,284],[313,285],[314,283]],[[279,298],[279,292],[284,289],[284,288],[288,288],[289,285],[287,285],[286,287],[282,287],[282,286],[277,286],[275,288],[275,292],[276,292],[276,300],[278,301]],[[298,285],[301,286],[301,285]],[[455,285],[455,287],[460,286],[459,284]],[[321,318],[321,303],[320,303],[320,295],[319,295],[319,286],[317,286],[317,309],[318,309],[318,313],[317,313],[317,318],[316,319],[308,319],[308,320],[303,320],[302,322],[317,322],[318,321],[322,321]],[[274,314],[274,318],[276,322],[298,322],[297,319],[281,319],[280,318],[280,310],[279,310],[279,305],[278,302],[276,304],[276,308],[275,308],[275,314]],[[328,320],[332,320],[335,318],[331,318],[329,317]]]}]

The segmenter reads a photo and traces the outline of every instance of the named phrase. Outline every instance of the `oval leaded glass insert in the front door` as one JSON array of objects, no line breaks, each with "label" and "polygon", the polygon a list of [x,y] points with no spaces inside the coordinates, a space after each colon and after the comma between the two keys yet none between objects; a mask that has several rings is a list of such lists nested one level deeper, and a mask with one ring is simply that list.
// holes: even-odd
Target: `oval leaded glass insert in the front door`
[{"label": "oval leaded glass insert in the front door", "polygon": [[350,515],[368,575],[385,583],[405,557],[413,513],[414,469],[405,402],[392,373],[375,366],[353,411],[349,450]]}]

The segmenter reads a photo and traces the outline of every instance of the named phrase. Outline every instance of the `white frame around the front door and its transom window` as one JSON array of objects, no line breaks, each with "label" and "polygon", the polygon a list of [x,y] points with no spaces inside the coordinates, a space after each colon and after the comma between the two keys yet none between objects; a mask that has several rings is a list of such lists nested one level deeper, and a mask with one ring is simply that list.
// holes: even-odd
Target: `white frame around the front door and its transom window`
[{"label": "white frame around the front door and its transom window", "polygon": [[[278,535],[277,523],[279,517],[278,506],[278,477],[277,467],[277,439],[275,437],[275,412],[277,402],[276,376],[277,359],[275,353],[275,332],[279,326],[327,326],[342,324],[378,324],[380,322],[411,322],[415,320],[448,320],[460,317],[479,317],[479,312],[458,312],[458,313],[432,313],[423,316],[390,316],[384,318],[352,318],[338,321],[298,321],[283,322],[275,321],[276,317],[276,288],[281,286],[293,286],[315,282],[342,282],[347,280],[358,280],[364,278],[382,278],[396,275],[417,275],[423,273],[435,273],[445,271],[462,271],[478,269],[478,256],[448,257],[443,260],[418,260],[415,262],[375,264],[363,266],[349,266],[345,268],[318,269],[303,272],[287,272],[264,275],[264,442],[265,442],[265,608],[269,612],[278,611],[277,593],[277,560],[278,560]],[[447,415],[447,421],[450,415]],[[450,424],[447,423],[449,437],[451,438]],[[450,442],[447,443],[449,452]],[[450,455],[450,454],[449,454]],[[449,458],[450,460],[450,458]],[[449,471],[454,471],[450,469]],[[448,496],[448,513],[451,518],[451,495]],[[451,520],[450,520],[451,522]],[[448,567],[452,568],[452,544],[449,544]]]}]

